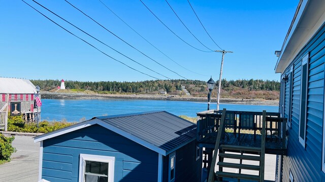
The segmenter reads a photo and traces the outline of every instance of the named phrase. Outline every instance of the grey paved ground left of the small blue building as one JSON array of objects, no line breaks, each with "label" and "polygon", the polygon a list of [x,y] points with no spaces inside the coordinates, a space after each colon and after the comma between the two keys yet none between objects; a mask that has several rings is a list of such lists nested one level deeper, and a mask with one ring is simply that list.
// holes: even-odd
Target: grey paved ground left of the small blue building
[{"label": "grey paved ground left of the small blue building", "polygon": [[38,181],[40,143],[34,143],[34,136],[15,136],[11,162],[0,165],[0,182]]}]

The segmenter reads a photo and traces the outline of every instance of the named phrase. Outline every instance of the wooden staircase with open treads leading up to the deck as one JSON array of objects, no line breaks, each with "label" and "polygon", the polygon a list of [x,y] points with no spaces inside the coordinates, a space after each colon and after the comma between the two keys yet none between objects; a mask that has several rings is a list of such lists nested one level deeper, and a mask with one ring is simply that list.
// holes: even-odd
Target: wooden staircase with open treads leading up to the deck
[{"label": "wooden staircase with open treads leading up to the deck", "polygon": [[[221,118],[219,131],[222,131],[223,129],[224,126]],[[238,181],[240,181],[240,179],[248,179],[252,181],[264,181],[265,135],[266,135],[266,111],[263,111],[263,124],[262,124],[262,136],[261,136],[262,142],[260,148],[234,146],[234,145],[219,145],[220,141],[218,140],[220,140],[220,138],[219,139],[217,138],[215,150],[214,150],[215,152],[213,155],[212,164],[209,171],[208,182],[222,181],[223,177],[237,178]],[[217,165],[219,167],[219,171],[214,172],[214,166],[216,162],[218,149],[219,149],[219,162],[217,163]],[[255,155],[249,155],[249,154],[255,154]],[[224,162],[224,159],[239,159],[239,163]],[[243,160],[258,161],[259,165],[243,164]],[[238,169],[239,173],[224,172],[223,168],[235,168]],[[242,174],[241,173],[242,169],[258,171],[258,175]]]}]

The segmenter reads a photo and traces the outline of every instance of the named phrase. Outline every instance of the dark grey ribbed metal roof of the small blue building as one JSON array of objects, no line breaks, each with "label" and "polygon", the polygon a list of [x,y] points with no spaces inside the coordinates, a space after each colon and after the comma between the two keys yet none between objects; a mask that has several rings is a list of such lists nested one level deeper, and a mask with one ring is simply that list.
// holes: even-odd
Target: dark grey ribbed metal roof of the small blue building
[{"label": "dark grey ribbed metal roof of the small blue building", "polygon": [[99,124],[164,156],[196,139],[197,125],[166,111],[94,117],[34,138],[41,142]]}]

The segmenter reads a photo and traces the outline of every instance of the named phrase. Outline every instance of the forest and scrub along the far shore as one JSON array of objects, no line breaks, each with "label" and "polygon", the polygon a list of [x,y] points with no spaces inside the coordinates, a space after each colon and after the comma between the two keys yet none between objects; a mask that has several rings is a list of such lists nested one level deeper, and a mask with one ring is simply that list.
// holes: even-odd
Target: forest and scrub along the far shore
[{"label": "forest and scrub along the far shore", "polygon": [[[51,91],[61,84],[60,80],[30,80],[42,90]],[[206,81],[201,80],[147,80],[136,82],[118,81],[64,81],[66,88],[72,90],[91,90],[98,94],[159,94],[166,91],[170,95],[185,95],[182,85],[192,96],[207,96],[209,90]],[[217,93],[218,80],[212,91]],[[278,99],[280,82],[262,79],[221,80],[222,97]]]}]

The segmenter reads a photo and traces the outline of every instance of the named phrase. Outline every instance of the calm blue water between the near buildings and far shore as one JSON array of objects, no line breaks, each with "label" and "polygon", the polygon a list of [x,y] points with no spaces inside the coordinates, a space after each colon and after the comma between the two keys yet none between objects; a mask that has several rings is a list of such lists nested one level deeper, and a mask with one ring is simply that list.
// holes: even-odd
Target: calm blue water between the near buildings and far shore
[{"label": "calm blue water between the near buildings and far shore", "polygon": [[[210,109],[216,109],[211,104]],[[220,109],[238,111],[278,112],[278,106],[220,104]],[[95,116],[126,114],[145,111],[167,111],[177,116],[196,117],[196,113],[207,110],[207,103],[189,101],[147,101],[147,100],[54,100],[42,99],[42,120],[80,121]]]}]

